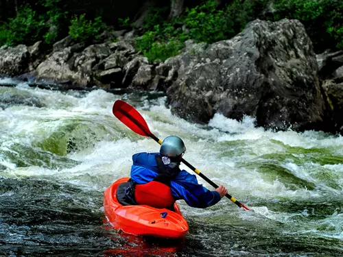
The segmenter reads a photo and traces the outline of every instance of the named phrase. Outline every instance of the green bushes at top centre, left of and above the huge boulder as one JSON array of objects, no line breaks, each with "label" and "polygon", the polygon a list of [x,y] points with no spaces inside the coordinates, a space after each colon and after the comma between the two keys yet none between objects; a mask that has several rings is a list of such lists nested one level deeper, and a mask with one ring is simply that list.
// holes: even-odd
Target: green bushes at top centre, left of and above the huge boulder
[{"label": "green bushes at top centre, left of and above the huge boulder", "polygon": [[[165,21],[166,10],[154,9],[145,21],[143,36],[137,38],[136,48],[150,60],[165,60],[178,54],[187,39],[196,42],[216,42],[235,36],[248,21],[255,19],[268,0],[234,1],[224,10],[217,10],[216,0],[202,1],[173,21]],[[182,29],[180,24],[185,25]]]}]

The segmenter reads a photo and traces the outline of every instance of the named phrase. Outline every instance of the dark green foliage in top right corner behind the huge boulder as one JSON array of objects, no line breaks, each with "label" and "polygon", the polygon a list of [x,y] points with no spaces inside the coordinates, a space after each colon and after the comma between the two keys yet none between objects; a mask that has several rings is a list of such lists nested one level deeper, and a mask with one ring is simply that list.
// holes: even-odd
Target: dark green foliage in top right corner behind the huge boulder
[{"label": "dark green foliage in top right corner behind the huge boulder", "polygon": [[317,51],[343,47],[342,0],[275,0],[274,21],[298,19],[307,29]]}]

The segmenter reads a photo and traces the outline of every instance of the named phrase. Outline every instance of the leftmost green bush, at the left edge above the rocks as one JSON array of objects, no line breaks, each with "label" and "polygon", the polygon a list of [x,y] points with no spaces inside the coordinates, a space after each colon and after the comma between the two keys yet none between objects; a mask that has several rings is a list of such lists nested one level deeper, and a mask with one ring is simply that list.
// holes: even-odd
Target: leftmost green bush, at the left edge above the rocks
[{"label": "leftmost green bush, at the left edge above the rocks", "polygon": [[0,27],[0,45],[32,44],[46,27],[41,16],[28,6],[19,8],[14,18]]}]

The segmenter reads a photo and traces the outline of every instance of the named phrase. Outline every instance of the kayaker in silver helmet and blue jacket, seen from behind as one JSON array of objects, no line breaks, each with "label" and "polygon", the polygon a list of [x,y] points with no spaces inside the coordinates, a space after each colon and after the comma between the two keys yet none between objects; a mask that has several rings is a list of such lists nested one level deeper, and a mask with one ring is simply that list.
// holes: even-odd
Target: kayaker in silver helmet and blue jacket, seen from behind
[{"label": "kayaker in silver helmet and blue jacket, seen from behind", "polygon": [[214,191],[198,183],[196,175],[180,170],[186,147],[178,136],[163,140],[159,153],[139,153],[132,156],[130,186],[126,188],[126,203],[168,208],[184,199],[191,207],[206,208],[217,204],[227,190],[219,186]]}]

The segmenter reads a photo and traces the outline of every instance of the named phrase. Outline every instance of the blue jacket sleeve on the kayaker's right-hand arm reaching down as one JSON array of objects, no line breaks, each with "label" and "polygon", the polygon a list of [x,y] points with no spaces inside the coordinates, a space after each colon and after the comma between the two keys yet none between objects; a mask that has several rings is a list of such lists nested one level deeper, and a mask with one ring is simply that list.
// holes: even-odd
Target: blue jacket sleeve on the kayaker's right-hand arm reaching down
[{"label": "blue jacket sleeve on the kayaker's right-hand arm reaching down", "polygon": [[189,206],[195,208],[213,206],[221,199],[217,191],[209,191],[198,183],[196,175],[185,170],[171,181],[171,194],[176,199],[184,199]]}]

